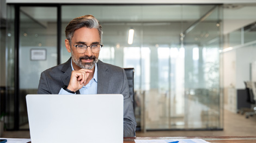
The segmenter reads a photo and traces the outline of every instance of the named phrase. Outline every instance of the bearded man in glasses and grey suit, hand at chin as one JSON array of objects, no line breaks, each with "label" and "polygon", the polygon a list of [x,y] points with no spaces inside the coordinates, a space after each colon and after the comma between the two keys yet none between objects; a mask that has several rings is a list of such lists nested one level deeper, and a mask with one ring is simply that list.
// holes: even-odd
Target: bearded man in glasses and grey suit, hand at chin
[{"label": "bearded man in glasses and grey suit, hand at chin", "polygon": [[41,73],[38,94],[123,94],[124,137],[134,137],[136,121],[124,69],[98,60],[101,25],[92,15],[66,27],[65,46],[71,58]]}]

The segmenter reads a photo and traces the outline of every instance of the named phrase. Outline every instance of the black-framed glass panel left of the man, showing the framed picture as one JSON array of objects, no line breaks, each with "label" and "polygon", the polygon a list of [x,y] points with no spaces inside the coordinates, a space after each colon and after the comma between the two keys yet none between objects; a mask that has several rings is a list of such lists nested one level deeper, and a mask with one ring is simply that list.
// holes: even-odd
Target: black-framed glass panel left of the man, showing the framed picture
[{"label": "black-framed glass panel left of the man, showing the framed picture", "polygon": [[29,129],[26,95],[57,65],[57,8],[8,5],[7,129]]}]

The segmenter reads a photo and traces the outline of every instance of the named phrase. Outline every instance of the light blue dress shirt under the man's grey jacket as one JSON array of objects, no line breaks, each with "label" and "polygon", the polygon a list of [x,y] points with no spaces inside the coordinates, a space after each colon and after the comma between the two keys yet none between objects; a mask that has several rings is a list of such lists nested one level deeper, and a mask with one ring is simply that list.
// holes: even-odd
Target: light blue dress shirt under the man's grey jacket
[{"label": "light blue dress shirt under the man's grey jacket", "polygon": [[[72,60],[71,60],[71,68],[72,70],[74,70],[72,65]],[[97,63],[95,64],[93,79],[90,80],[86,86],[83,86],[81,89],[79,89],[79,92],[80,94],[97,94]],[[69,93],[62,88],[60,89],[59,94],[72,94],[72,93]]]}]

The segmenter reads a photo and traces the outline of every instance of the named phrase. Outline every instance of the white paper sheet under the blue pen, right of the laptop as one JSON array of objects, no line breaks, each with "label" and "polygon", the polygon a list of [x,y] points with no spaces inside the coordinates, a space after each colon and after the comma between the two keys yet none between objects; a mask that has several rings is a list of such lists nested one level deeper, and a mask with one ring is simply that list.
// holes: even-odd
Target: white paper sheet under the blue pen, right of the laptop
[{"label": "white paper sheet under the blue pen, right of the laptop", "polygon": [[210,143],[203,139],[161,139],[161,140],[135,140],[136,143],[169,143],[179,141],[179,143]]}]

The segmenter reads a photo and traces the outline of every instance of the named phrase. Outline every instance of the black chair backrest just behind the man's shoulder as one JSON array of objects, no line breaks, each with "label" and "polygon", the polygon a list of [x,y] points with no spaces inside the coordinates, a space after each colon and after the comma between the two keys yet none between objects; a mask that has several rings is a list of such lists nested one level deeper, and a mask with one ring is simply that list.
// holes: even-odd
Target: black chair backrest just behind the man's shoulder
[{"label": "black chair backrest just behind the man's shoulder", "polygon": [[134,97],[134,68],[124,68],[127,80],[128,80],[128,85],[129,85],[129,91],[130,91],[130,96],[131,96],[131,101],[133,105],[133,110],[135,109],[135,97]]}]

